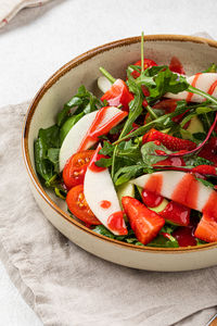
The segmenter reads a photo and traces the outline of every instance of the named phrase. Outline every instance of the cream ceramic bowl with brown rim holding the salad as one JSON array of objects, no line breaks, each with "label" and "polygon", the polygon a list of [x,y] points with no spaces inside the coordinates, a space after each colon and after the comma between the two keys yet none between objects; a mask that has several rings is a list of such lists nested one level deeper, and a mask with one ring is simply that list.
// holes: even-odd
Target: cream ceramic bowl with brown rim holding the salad
[{"label": "cream ceramic bowl with brown rim holding the salad", "polygon": [[[217,42],[199,37],[150,35],[144,38],[146,58],[168,64],[173,55],[182,62],[187,74],[205,70],[217,61]],[[82,249],[114,263],[149,271],[188,271],[217,264],[217,242],[191,248],[146,248],[123,243],[98,235],[67,214],[66,204],[46,189],[35,171],[34,140],[40,127],[55,123],[63,104],[84,84],[97,96],[99,67],[114,77],[125,78],[128,64],[140,58],[140,37],[131,37],[90,50],[65,64],[41,87],[26,114],[23,130],[23,155],[30,188],[47,218]]]}]

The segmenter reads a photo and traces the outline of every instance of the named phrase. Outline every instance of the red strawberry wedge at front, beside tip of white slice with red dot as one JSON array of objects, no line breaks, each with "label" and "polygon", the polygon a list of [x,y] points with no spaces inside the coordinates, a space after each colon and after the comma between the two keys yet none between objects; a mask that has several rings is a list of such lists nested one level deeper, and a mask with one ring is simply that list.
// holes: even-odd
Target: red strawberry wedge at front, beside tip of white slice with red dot
[{"label": "red strawberry wedge at front, beside tip of white slice with red dot", "polygon": [[132,197],[123,197],[122,203],[137,239],[149,243],[164,226],[164,218]]}]

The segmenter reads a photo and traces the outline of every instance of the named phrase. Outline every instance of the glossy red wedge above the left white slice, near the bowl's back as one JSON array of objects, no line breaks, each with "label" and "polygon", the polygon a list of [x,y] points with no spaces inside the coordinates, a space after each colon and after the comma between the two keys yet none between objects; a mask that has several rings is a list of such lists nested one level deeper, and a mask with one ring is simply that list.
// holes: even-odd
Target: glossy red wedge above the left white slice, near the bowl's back
[{"label": "glossy red wedge above the left white slice, near the bowl's back", "polygon": [[133,100],[132,93],[122,79],[116,79],[112,87],[102,96],[101,101],[106,100],[110,106],[123,105],[124,111],[129,111],[129,102]]}]

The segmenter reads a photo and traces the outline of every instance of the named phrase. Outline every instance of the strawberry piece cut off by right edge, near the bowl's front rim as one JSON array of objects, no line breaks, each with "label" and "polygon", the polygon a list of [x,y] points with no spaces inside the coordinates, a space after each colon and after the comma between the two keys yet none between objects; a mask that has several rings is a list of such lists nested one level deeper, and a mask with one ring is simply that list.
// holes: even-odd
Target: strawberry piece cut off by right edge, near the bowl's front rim
[{"label": "strawberry piece cut off by right edge, near the bowl's front rim", "polygon": [[194,236],[206,242],[217,241],[216,218],[204,214],[195,229]]}]

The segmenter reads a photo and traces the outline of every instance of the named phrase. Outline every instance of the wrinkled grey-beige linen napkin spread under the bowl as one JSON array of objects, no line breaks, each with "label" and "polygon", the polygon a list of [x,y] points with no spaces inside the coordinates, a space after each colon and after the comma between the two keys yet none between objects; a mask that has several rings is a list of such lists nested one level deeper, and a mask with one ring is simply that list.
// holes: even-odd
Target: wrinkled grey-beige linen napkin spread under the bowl
[{"label": "wrinkled grey-beige linen napkin spread under the bowl", "polygon": [[204,325],[216,312],[217,267],[155,273],[118,266],[78,248],[46,220],[22,162],[26,110],[27,103],[0,110],[0,256],[42,323]]}]

